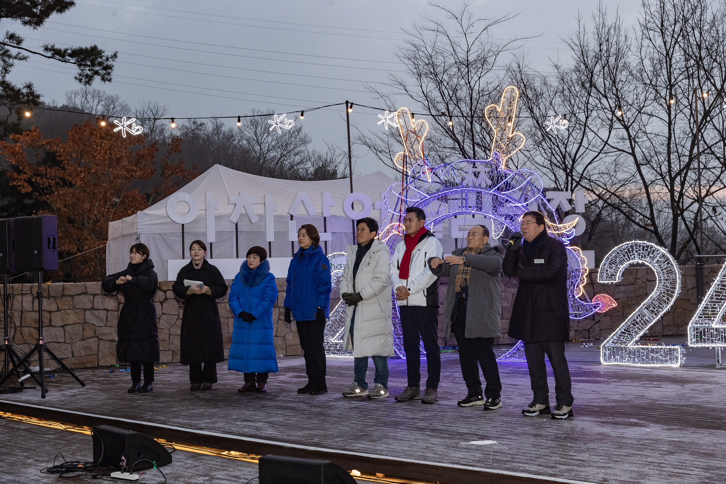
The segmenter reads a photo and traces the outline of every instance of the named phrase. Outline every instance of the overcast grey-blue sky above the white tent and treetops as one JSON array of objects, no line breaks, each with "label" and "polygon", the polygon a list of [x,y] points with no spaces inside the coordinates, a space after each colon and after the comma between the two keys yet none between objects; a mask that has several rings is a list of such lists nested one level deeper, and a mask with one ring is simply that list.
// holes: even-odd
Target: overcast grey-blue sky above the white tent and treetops
[{"label": "overcast grey-blue sky above the white tent and treetops", "polygon": [[[460,5],[457,0],[444,3]],[[605,0],[605,5],[611,12],[618,9],[632,25],[640,2]],[[597,0],[472,2],[481,16],[518,13],[497,30],[499,38],[542,34],[525,46],[537,67],[544,67],[548,57],[566,59],[560,36],[574,30],[578,12],[589,23],[596,6]],[[3,27],[22,33],[28,48],[52,42],[118,50],[113,83],[97,81],[94,87],[118,94],[132,108],[155,100],[176,118],[271,109],[296,120],[301,110],[346,99],[377,106],[362,82],[376,84],[386,80],[387,71],[404,70],[392,51],[404,38],[401,28],[423,15],[443,18],[423,0],[78,0],[70,12],[52,17],[40,30],[10,22]],[[46,102],[62,102],[66,91],[79,87],[74,73],[33,57],[17,63],[11,78],[33,81]],[[417,106],[409,100],[398,101],[415,112]],[[377,115],[356,109],[351,122],[363,130],[382,129]],[[325,147],[324,141],[346,146],[343,107],[311,112],[300,122],[316,147]],[[229,123],[233,126],[234,120]],[[388,173],[365,156],[364,148],[354,151],[363,156],[354,173]]]}]

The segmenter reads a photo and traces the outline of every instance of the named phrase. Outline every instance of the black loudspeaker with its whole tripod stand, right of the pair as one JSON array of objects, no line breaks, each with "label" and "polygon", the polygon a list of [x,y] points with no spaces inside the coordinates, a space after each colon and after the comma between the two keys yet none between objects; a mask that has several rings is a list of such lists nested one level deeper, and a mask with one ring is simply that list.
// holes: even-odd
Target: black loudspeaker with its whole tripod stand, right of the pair
[{"label": "black loudspeaker with its whole tripod stand, right of the pair", "polygon": [[[68,372],[82,387],[85,387],[86,384],[48,348],[43,338],[43,271],[58,270],[57,220],[55,216],[50,215],[16,217],[12,223],[12,231],[15,240],[15,257],[13,258],[15,271],[38,273],[38,292],[36,293],[38,298],[38,343],[33,346],[32,350],[25,353],[25,356],[20,358],[20,361],[5,374],[0,380],[0,385],[10,375],[17,374],[17,369],[20,366],[23,366],[29,372],[28,361],[30,361],[33,354],[38,353],[40,379],[36,379],[36,382],[41,387],[41,398],[45,398],[47,390],[45,386],[44,357],[45,353],[47,353],[65,372]],[[5,277],[7,278],[7,275]],[[7,311],[7,300],[5,307]],[[35,377],[33,376],[33,378]]]}]

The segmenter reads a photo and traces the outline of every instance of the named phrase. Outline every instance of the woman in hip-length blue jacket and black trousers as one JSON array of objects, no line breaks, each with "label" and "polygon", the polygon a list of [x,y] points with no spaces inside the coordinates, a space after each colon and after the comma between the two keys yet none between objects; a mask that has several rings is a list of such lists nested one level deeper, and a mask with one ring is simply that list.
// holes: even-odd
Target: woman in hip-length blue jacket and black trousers
[{"label": "woman in hip-length blue jacket and black trousers", "polygon": [[306,223],[298,230],[300,249],[290,261],[285,288],[285,321],[297,321],[308,384],[298,393],[327,393],[323,334],[330,311],[330,261],[320,248],[320,235]]}]

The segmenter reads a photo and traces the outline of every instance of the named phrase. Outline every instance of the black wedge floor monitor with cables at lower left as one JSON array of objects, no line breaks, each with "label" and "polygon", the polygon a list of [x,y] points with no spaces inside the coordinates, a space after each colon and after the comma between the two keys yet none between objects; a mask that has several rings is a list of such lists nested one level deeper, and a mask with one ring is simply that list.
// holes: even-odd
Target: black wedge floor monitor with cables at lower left
[{"label": "black wedge floor monitor with cables at lower left", "polygon": [[154,467],[150,462],[139,462],[142,459],[156,462],[157,467],[171,464],[171,453],[147,435],[110,425],[93,427],[93,462],[121,470],[124,457],[126,472]]}]

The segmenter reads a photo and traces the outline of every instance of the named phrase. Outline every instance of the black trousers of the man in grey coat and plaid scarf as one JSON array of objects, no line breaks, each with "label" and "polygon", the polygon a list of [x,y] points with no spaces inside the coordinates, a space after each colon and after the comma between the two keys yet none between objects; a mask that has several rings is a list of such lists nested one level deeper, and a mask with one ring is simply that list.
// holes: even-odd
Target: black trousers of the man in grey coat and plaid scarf
[{"label": "black trousers of the man in grey coat and plaid scarf", "polygon": [[481,380],[479,380],[479,365],[481,365],[481,372],[486,381],[484,396],[500,398],[502,380],[499,379],[499,366],[497,356],[494,354],[494,338],[468,338],[464,336],[465,329],[466,303],[460,303],[456,319],[452,323],[452,330],[459,345],[459,364],[468,396],[481,396]]}]

